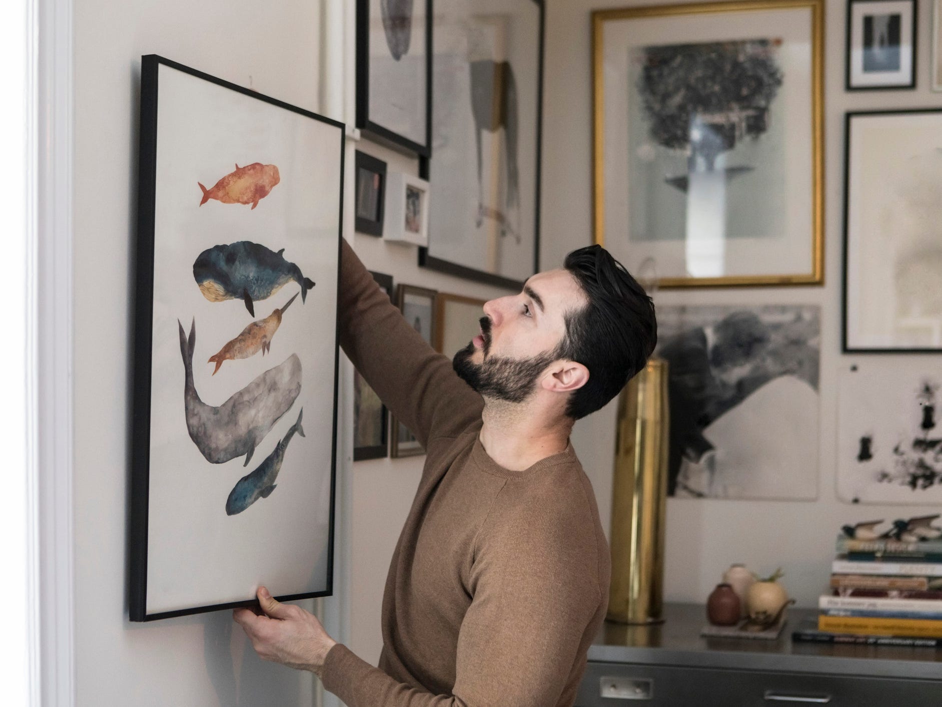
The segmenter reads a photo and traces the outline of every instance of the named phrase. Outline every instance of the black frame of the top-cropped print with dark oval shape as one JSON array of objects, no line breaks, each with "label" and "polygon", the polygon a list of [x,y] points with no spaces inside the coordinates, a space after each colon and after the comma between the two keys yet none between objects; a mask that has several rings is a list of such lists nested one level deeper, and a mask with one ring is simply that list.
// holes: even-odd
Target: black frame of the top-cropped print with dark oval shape
[{"label": "black frame of the top-cropped print with dark oval shape", "polygon": [[[422,0],[417,0],[422,2]],[[431,155],[431,25],[432,0],[425,0],[425,141],[418,142],[378,123],[369,105],[369,0],[356,5],[356,126],[370,139],[399,152],[428,157]],[[374,111],[375,112],[375,111]]]}]

